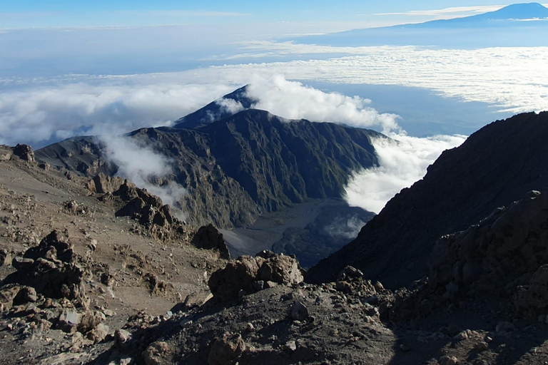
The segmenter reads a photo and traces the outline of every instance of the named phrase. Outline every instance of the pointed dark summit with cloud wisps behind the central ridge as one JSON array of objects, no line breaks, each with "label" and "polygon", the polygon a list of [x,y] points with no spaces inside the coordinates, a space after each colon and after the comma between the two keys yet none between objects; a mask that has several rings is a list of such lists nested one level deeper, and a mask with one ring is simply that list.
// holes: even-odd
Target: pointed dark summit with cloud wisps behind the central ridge
[{"label": "pointed dark summit with cloud wisps behind the central ridge", "polygon": [[253,107],[256,100],[248,96],[248,86],[243,86],[222,98],[209,103],[207,106],[196,110],[194,113],[178,119],[174,123],[175,128],[198,128],[217,120],[227,118],[243,109]]}]

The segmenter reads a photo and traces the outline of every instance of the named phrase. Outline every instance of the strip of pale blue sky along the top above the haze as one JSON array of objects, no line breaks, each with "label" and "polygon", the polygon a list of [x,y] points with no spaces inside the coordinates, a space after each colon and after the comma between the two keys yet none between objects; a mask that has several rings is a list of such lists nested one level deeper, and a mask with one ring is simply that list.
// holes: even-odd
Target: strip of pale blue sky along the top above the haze
[{"label": "strip of pale blue sky along the top above the haze", "polygon": [[[314,23],[326,31],[352,26],[382,26],[437,17],[475,14],[482,6],[504,6],[497,0],[477,1],[44,1],[2,0],[0,29],[73,26],[154,26],[167,24]],[[447,8],[461,8],[447,11]],[[470,9],[466,9],[471,7]],[[485,8],[488,9],[489,8]],[[429,12],[432,10],[440,13]],[[426,12],[423,12],[426,11]],[[407,13],[407,14],[406,14]],[[318,28],[315,28],[318,31]],[[342,28],[344,29],[344,27]]]}]

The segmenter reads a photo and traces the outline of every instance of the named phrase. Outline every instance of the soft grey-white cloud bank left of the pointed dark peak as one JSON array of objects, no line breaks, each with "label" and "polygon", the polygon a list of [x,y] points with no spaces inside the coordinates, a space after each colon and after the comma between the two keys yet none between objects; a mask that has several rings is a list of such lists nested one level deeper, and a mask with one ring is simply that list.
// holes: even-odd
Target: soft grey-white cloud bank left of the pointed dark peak
[{"label": "soft grey-white cloud bank left of the pointed dark peak", "polygon": [[234,86],[106,78],[0,93],[0,143],[36,145],[73,135],[170,125]]}]

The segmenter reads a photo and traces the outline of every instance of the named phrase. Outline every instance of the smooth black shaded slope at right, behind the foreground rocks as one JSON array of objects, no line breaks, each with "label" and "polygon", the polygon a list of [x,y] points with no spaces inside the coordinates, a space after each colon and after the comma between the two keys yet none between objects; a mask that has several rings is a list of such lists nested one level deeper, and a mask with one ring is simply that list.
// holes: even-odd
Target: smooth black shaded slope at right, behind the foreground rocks
[{"label": "smooth black shaded slope at right, behind the foreground rocks", "polygon": [[439,237],[548,186],[547,140],[547,112],[515,115],[478,130],[392,198],[356,240],[310,269],[309,279],[331,280],[348,264],[387,287],[420,279]]}]

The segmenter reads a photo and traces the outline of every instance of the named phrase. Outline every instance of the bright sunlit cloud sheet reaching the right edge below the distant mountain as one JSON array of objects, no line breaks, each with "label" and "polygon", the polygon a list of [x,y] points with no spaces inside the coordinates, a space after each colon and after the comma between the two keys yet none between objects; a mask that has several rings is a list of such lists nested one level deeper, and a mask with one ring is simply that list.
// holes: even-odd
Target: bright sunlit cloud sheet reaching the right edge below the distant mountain
[{"label": "bright sunlit cloud sheet reaching the right edge below the distant mountain", "polygon": [[[331,47],[292,42],[255,42],[262,56],[340,54],[328,59],[213,66],[202,73],[239,76],[283,74],[288,79],[427,88],[462,101],[489,103],[498,111],[548,110],[548,47],[474,50],[412,46]],[[248,56],[251,56],[249,53]]]}]

